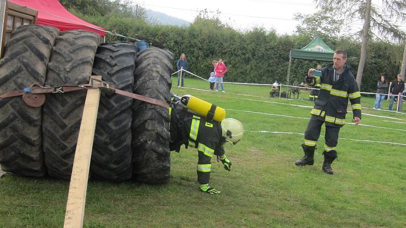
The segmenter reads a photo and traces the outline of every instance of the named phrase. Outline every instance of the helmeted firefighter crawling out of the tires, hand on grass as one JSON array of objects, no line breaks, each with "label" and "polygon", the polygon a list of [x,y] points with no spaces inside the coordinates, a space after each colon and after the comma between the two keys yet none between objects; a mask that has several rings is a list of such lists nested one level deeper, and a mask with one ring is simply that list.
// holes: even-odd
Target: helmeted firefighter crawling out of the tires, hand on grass
[{"label": "helmeted firefighter crawling out of the tires, hand on grass", "polygon": [[216,188],[209,186],[211,159],[217,156],[224,169],[231,170],[231,162],[225,156],[223,144],[235,145],[244,134],[243,125],[235,119],[222,122],[210,121],[186,108],[180,101],[173,101],[170,108],[171,142],[170,149],[179,152],[181,145],[197,148],[197,181],[202,192],[219,194]]}]

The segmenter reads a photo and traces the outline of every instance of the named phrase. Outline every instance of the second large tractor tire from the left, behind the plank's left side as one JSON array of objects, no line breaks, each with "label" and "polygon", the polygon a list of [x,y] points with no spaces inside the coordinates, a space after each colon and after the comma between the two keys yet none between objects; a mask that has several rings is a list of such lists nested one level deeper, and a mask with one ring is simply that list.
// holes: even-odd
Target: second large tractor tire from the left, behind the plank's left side
[{"label": "second large tractor tire from the left, behind the plank's left side", "polygon": [[[45,86],[88,84],[101,37],[90,31],[63,31],[48,64]],[[45,164],[50,176],[70,179],[86,91],[47,94],[43,108]]]}]

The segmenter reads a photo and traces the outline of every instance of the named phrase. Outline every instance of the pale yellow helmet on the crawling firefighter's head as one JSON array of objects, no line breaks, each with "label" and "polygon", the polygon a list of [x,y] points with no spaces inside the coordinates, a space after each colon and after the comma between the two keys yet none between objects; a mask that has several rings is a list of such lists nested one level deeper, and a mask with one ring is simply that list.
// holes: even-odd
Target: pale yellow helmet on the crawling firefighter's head
[{"label": "pale yellow helmet on the crawling firefighter's head", "polygon": [[224,140],[235,145],[244,135],[244,127],[240,121],[226,118],[221,122],[221,130]]}]

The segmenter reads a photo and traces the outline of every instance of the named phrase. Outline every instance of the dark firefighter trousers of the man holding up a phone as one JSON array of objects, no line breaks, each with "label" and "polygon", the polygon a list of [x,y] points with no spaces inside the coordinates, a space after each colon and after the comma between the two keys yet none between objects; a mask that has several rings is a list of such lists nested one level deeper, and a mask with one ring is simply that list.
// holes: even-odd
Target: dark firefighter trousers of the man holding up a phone
[{"label": "dark firefighter trousers of the man holding up a phone", "polygon": [[[308,127],[304,132],[304,145],[306,148],[314,149],[317,140],[320,136],[321,126],[324,124],[323,120],[320,120],[316,116],[312,115],[309,121]],[[324,151],[325,152],[336,152],[335,147],[337,146],[337,141],[339,139],[340,127],[332,127],[326,125],[326,132],[324,135]]]}]

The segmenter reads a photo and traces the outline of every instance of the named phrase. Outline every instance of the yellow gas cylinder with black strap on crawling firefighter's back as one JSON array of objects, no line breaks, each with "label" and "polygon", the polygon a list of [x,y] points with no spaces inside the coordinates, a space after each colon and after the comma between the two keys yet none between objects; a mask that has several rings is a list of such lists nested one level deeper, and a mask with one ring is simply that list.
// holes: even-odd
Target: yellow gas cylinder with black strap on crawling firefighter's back
[{"label": "yellow gas cylinder with black strap on crawling firefighter's back", "polygon": [[225,118],[225,110],[223,108],[192,95],[184,95],[181,98],[181,102],[187,107],[187,109],[196,112],[198,115],[204,116],[207,120],[221,122]]}]

